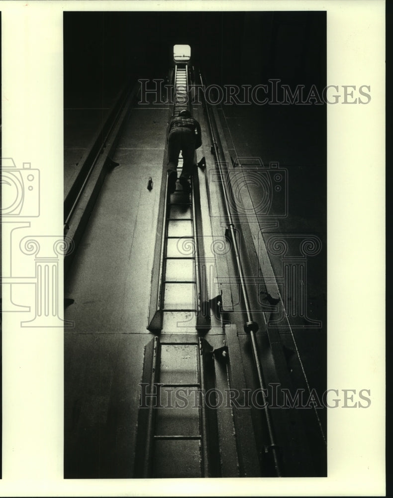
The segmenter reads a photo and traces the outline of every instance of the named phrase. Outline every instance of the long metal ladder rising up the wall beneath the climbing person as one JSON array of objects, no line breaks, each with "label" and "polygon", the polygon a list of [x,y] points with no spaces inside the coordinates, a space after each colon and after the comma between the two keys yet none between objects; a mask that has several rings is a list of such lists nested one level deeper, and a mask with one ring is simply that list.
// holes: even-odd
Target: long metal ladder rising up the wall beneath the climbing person
[{"label": "long metal ladder rising up the wall beneath the climbing person", "polygon": [[[187,92],[188,68],[177,65],[172,116],[189,109]],[[182,167],[179,157],[178,177]],[[211,367],[211,348],[197,333],[209,324],[197,171],[190,194],[178,185],[171,195],[165,187],[158,291],[149,326],[159,336],[145,348],[135,477],[210,477],[219,469],[216,414],[203,400],[214,377],[206,380],[204,374]]]}]

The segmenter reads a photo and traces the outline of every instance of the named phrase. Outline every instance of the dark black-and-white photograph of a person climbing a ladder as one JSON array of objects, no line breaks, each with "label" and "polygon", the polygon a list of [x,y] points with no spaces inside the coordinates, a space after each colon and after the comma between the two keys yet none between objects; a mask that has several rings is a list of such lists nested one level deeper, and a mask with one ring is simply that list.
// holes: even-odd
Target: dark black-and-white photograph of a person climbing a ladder
[{"label": "dark black-and-white photograph of a person climbing a ladder", "polygon": [[340,91],[323,11],[64,13],[65,478],[326,476]]}]

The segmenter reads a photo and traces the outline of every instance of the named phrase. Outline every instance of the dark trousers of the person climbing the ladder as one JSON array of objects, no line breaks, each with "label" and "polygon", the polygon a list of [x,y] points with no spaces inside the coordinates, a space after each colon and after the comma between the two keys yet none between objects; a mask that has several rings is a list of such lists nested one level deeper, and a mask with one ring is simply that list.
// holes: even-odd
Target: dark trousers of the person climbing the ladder
[{"label": "dark trousers of the person climbing the ladder", "polygon": [[180,177],[189,178],[194,165],[195,133],[187,128],[175,128],[168,137],[168,173],[176,171],[182,151],[183,169]]}]

